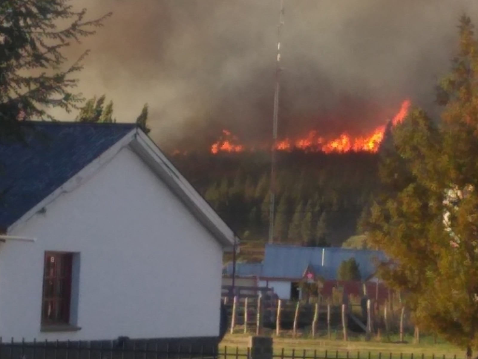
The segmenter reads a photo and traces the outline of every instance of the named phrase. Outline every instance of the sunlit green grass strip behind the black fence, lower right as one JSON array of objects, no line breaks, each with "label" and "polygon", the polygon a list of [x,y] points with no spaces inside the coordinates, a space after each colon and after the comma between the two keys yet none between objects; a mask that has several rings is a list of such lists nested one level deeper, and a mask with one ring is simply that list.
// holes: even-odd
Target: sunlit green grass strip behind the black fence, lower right
[{"label": "sunlit green grass strip behind the black fence, lower right", "polygon": [[[335,336],[339,336],[337,333]],[[235,357],[236,351],[247,352],[248,335],[227,335],[221,342],[220,351],[228,359]],[[348,341],[318,338],[273,337],[274,356],[287,358],[330,358],[330,359],[457,359],[465,357],[465,352],[433,337],[422,337],[420,344],[413,343],[413,337],[404,337],[405,343],[398,343],[398,336],[391,336],[390,342],[372,338],[366,341],[363,336],[349,337]]]}]

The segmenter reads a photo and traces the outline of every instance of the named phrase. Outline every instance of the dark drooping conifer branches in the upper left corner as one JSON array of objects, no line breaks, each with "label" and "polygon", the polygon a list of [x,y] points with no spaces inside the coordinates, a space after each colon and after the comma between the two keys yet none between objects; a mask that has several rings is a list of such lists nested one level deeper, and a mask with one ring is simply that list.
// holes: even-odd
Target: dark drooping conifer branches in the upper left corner
[{"label": "dark drooping conifer branches in the upper left corner", "polygon": [[[82,54],[65,67],[65,47],[95,33],[107,14],[85,20],[67,0],[2,0],[0,3],[0,136],[20,139],[18,120],[51,119],[47,110],[77,109],[74,75],[82,69]],[[65,68],[64,70],[62,68]],[[1,139],[0,138],[0,139]]]}]

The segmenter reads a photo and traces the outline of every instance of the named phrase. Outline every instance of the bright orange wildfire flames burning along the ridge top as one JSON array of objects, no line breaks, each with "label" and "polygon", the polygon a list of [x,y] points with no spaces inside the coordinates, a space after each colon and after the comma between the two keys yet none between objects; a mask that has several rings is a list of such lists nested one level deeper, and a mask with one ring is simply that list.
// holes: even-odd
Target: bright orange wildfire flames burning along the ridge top
[{"label": "bright orange wildfire flames burning along the ridge top", "polygon": [[[410,110],[411,102],[405,100],[402,102],[400,111],[391,120],[392,126],[395,126],[403,121]],[[325,152],[325,153],[344,153],[344,152],[377,152],[380,143],[383,140],[385,134],[386,125],[381,125],[374,129],[369,135],[352,137],[347,133],[343,133],[337,138],[326,140],[320,136],[316,130],[309,131],[307,135],[302,138],[292,140],[285,138],[278,141],[275,148],[280,151],[291,151],[293,149],[300,149],[307,152]],[[211,153],[217,154],[218,152],[242,152],[244,150],[252,150],[252,148],[246,148],[244,145],[238,144],[238,138],[228,130],[222,130],[223,136],[219,138],[211,146]]]}]

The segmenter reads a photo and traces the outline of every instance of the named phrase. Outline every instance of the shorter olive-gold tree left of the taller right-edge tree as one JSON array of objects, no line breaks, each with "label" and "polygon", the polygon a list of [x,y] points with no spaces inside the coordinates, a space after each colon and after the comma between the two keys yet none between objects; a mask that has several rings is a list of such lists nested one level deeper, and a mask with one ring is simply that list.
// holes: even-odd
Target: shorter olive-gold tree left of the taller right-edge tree
[{"label": "shorter olive-gold tree left of the taller right-edge tree", "polygon": [[432,248],[443,238],[434,233],[434,225],[442,219],[441,194],[425,184],[438,162],[438,134],[423,111],[413,110],[392,135],[393,146],[384,150],[380,161],[380,191],[364,229],[369,244],[392,258],[393,266],[380,266],[380,276],[407,293],[404,302],[416,323],[424,325],[425,319],[417,314],[421,301],[430,296],[429,273],[437,270]]}]

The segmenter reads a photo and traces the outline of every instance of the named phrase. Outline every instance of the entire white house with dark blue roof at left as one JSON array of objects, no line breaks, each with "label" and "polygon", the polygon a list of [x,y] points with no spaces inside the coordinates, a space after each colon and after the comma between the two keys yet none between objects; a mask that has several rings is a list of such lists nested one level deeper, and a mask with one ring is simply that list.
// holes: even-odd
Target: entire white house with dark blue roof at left
[{"label": "entire white house with dark blue roof at left", "polygon": [[234,234],[133,124],[0,145],[0,336],[217,340]]}]

